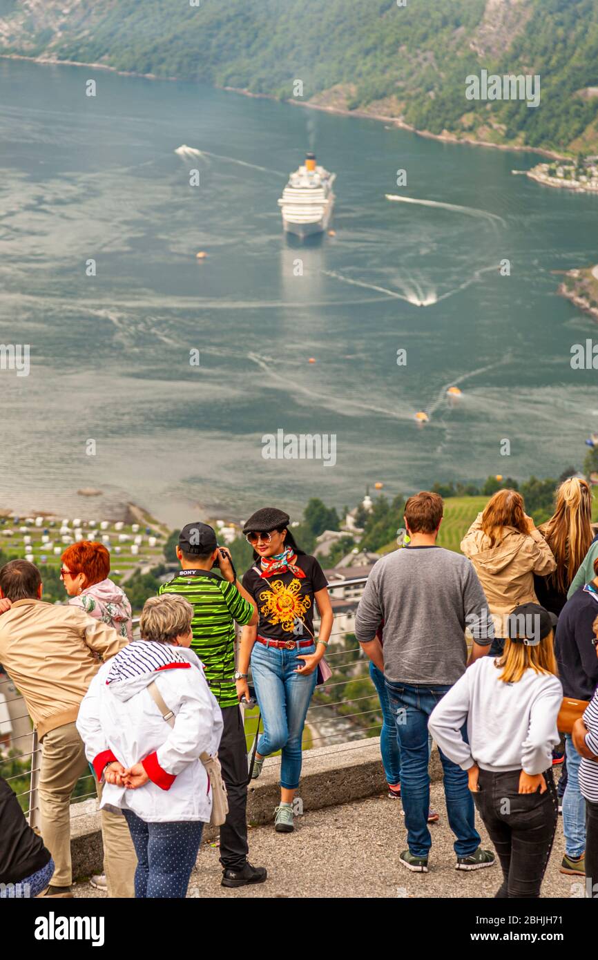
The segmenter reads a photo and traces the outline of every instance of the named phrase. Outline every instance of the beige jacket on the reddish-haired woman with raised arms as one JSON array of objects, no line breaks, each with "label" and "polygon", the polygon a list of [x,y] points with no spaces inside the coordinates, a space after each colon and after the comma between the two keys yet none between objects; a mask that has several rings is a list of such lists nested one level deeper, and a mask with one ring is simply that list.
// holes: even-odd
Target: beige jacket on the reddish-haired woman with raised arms
[{"label": "beige jacket on the reddish-haired woman with raised arms", "polygon": [[[496,636],[505,636],[504,617],[522,603],[538,603],[534,574],[546,576],[557,567],[552,551],[539,530],[522,534],[505,527],[500,543],[490,546],[478,514],[461,541],[461,550],[475,567],[495,619]],[[500,623],[496,618],[500,618]]]}]

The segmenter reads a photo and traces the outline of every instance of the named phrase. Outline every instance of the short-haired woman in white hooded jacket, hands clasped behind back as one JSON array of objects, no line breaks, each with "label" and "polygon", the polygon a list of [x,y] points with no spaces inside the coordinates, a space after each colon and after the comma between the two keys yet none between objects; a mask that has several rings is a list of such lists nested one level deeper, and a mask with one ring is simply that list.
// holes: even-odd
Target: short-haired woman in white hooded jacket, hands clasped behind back
[{"label": "short-haired woman in white hooded jacket, hands clasped behind back", "polygon": [[[84,697],[77,729],[85,755],[106,783],[102,807],[121,809],[137,854],[136,898],[184,898],[211,814],[209,778],[199,759],[213,755],[223,722],[187,649],[193,607],[166,593],[150,597],[140,640],[98,671]],[[175,714],[164,720],[149,685]]]}]

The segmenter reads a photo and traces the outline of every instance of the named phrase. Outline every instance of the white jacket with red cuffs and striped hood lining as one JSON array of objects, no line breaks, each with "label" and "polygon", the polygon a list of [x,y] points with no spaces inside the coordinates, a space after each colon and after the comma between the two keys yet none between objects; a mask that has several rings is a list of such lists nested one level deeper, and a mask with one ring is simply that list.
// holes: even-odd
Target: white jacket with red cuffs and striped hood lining
[{"label": "white jacket with red cuffs and striped hood lining", "polygon": [[[147,689],[152,681],[175,713],[174,727],[163,719]],[[135,790],[106,783],[102,807],[132,810],[148,823],[209,822],[210,784],[198,757],[218,750],[223,720],[192,650],[133,640],[91,681],[77,730],[98,780],[105,782],[103,771],[110,760],[125,767],[141,762],[150,778]]]}]

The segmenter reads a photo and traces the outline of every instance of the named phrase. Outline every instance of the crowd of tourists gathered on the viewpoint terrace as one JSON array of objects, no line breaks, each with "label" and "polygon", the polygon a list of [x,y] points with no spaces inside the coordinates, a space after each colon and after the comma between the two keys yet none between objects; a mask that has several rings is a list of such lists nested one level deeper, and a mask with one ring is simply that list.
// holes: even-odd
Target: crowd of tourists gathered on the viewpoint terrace
[{"label": "crowd of tourists gathered on the viewpoint terrace", "polygon": [[[428,824],[439,818],[430,810],[434,740],[456,869],[489,868],[497,856],[496,897],[539,897],[562,806],[561,870],[582,877],[591,897],[598,537],[590,489],[566,480],[554,516],[538,528],[518,492],[496,492],[461,554],[437,544],[442,519],[437,493],[409,497],[407,537],[374,565],[355,617],[380,700],[389,796],[405,817],[397,862],[428,870]],[[184,898],[210,822],[220,830],[222,884],[267,879],[249,860],[248,780],[280,751],[275,830],[291,832],[305,718],[330,676],[326,579],[289,525],[272,507],[249,518],[253,560],[242,581],[210,526],[183,527],[179,571],[146,601],[139,638],[102,543],[64,551],[64,605],[43,600],[34,564],[0,569],[0,663],[41,746],[40,836],[0,778],[0,897],[19,884],[27,896],[72,897],[70,802],[85,774],[96,784],[104,846],[104,871],[92,882],[108,896]],[[255,700],[263,732],[248,762],[239,704]],[[476,808],[494,851],[481,845]]]}]

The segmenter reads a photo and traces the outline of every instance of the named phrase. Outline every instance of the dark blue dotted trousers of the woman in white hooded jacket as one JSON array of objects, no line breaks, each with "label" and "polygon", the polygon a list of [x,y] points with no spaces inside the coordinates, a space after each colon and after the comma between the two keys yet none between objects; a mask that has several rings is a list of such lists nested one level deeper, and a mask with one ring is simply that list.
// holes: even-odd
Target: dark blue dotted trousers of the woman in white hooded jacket
[{"label": "dark blue dotted trousers of the woman in white hooded jacket", "polygon": [[184,899],[202,842],[203,823],[175,820],[148,824],[123,810],[137,854],[135,900]]}]

